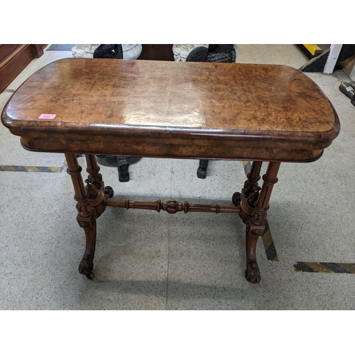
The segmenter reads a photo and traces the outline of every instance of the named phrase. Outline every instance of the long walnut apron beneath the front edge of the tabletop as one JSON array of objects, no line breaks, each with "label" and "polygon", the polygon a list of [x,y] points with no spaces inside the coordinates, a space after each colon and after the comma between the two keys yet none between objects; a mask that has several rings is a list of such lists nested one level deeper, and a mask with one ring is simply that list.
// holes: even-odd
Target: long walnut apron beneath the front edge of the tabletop
[{"label": "long walnut apron beneath the front edge of the tabletop", "polygon": [[[323,149],[294,149],[290,143],[268,147],[265,141],[237,141],[211,138],[145,138],[130,136],[68,137],[57,132],[38,135],[21,134],[23,148],[48,153],[86,153],[96,155],[133,155],[151,158],[192,158],[219,160],[263,160],[312,162],[322,156]],[[273,143],[275,146],[275,143]]]}]

